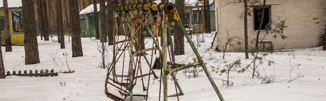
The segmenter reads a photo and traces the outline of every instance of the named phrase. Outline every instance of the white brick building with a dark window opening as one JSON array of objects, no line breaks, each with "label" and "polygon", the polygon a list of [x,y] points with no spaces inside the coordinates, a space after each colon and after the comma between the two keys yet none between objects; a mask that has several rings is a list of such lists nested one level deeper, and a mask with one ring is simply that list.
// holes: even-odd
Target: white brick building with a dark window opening
[{"label": "white brick building with a dark window opening", "polygon": [[[274,38],[273,35],[267,35],[264,39],[273,42],[273,49],[322,46],[323,39],[321,37],[324,34],[326,22],[326,0],[267,0],[265,8],[268,20],[274,21],[279,17],[286,20],[283,33],[287,36],[286,39],[283,40],[280,36]],[[249,11],[252,11],[252,8]],[[243,18],[241,18],[243,12],[243,0],[215,0],[218,45],[225,46],[228,39],[227,32],[230,37],[238,36],[244,39],[244,24]],[[248,41],[249,48],[253,48],[257,31],[255,31],[255,14],[253,12],[250,14],[248,16]],[[259,40],[264,35],[265,32],[262,31]],[[241,42],[244,43],[244,40]],[[228,48],[228,51],[243,52],[244,44]]]}]

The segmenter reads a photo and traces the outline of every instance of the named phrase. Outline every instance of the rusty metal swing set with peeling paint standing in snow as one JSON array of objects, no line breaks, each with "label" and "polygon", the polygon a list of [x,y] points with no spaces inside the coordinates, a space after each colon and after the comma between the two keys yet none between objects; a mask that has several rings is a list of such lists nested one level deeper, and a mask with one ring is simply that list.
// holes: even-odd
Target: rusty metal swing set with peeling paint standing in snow
[{"label": "rusty metal swing set with peeling paint standing in snow", "polygon": [[[150,75],[153,75],[155,79],[158,79],[157,75],[155,74],[152,67],[152,60],[153,60],[153,51],[158,50],[159,54],[159,62],[161,66],[160,72],[160,86],[159,86],[159,97],[161,92],[161,83],[163,83],[164,89],[164,100],[168,100],[168,97],[177,97],[179,100],[179,95],[183,95],[183,91],[174,75],[175,72],[191,68],[194,66],[201,66],[209,79],[209,82],[214,88],[214,91],[218,95],[221,101],[224,101],[221,92],[219,91],[218,87],[215,85],[209,71],[207,70],[205,63],[203,62],[201,56],[199,55],[193,41],[189,37],[189,34],[185,30],[180,17],[175,10],[174,4],[172,3],[160,3],[160,4],[131,4],[125,6],[117,6],[114,8],[114,13],[117,13],[119,16],[118,18],[114,18],[114,44],[113,44],[113,62],[107,69],[106,81],[105,81],[105,94],[107,97],[114,99],[114,100],[126,100],[129,96],[129,100],[133,100],[133,96],[142,96],[148,97],[148,88],[149,88],[149,80]],[[151,16],[150,16],[151,15]],[[157,21],[154,16],[160,16],[162,18],[161,21]],[[147,21],[149,16],[152,17],[154,20]],[[121,24],[117,24],[120,22]],[[171,68],[167,62],[167,55],[170,56],[170,51],[167,46],[167,23],[175,22],[178,24],[182,29],[183,34],[185,35],[188,43],[191,45],[198,62],[194,62],[188,65],[180,66]],[[153,32],[151,31],[149,24],[153,26],[158,26],[160,31],[156,32],[156,36],[154,36]],[[123,31],[119,31],[119,30]],[[141,33],[144,32],[146,36],[146,32],[150,35],[153,45],[151,48],[144,49],[145,46],[142,46],[141,43]],[[124,40],[119,40],[118,33],[123,33],[125,35]],[[158,33],[161,34],[161,47],[158,44]],[[155,39],[156,38],[156,39]],[[142,48],[143,47],[143,48]],[[151,60],[149,61],[146,57],[146,53],[151,51]],[[125,64],[125,56],[129,55],[130,59],[128,64]],[[122,57],[121,57],[122,56]],[[135,59],[134,59],[135,57]],[[142,71],[142,62],[141,58],[146,60],[148,67],[150,68],[148,74],[143,74]],[[117,71],[116,67],[117,63],[122,61],[122,71]],[[171,56],[170,56],[171,61]],[[125,70],[125,66],[128,65],[128,69]],[[172,66],[173,67],[173,66]],[[127,72],[127,73],[124,73]],[[118,74],[121,73],[121,74]],[[167,85],[167,75],[171,75],[174,84],[176,94],[168,96],[168,85]],[[143,78],[148,76],[147,87],[145,87],[145,83]],[[133,90],[135,85],[137,84],[137,80],[141,79],[143,92],[146,91],[145,94],[133,94]],[[179,92],[179,93],[178,93]],[[160,99],[160,98],[159,98]]]}]

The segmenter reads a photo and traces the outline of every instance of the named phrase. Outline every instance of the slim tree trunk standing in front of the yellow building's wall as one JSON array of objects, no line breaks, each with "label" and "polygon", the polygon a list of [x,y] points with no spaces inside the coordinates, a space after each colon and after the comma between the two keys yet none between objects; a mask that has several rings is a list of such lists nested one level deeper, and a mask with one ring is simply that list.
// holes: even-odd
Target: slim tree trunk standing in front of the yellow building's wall
[{"label": "slim tree trunk standing in front of the yellow building's wall", "polygon": [[6,52],[12,52],[11,35],[10,35],[10,27],[9,27],[9,11],[8,11],[7,0],[3,0],[3,3],[4,3],[5,29],[6,29]]}]

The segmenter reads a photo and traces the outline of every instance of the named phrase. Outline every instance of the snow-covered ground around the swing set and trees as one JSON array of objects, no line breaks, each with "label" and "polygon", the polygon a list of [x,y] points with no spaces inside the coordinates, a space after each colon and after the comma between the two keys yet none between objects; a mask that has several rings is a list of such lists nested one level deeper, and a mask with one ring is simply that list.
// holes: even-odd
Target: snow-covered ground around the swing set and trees
[{"label": "snow-covered ground around the swing set and trees", "polygon": [[[238,59],[241,60],[242,67],[252,62],[253,57],[246,60],[244,53],[226,53],[225,60],[223,60],[223,53],[217,53],[213,49],[208,50],[212,37],[213,34],[206,34],[206,42],[200,43],[198,47],[209,70],[213,71],[213,67],[222,69],[226,64]],[[122,38],[121,36],[120,39]],[[71,58],[71,42],[69,43],[67,39],[68,37],[66,37],[66,49],[60,49],[60,44],[57,42],[39,39],[41,63],[36,65],[24,65],[23,46],[13,46],[13,52],[3,53],[6,71],[55,69],[55,72],[63,72],[67,70],[66,57],[63,53],[67,52],[68,65],[75,72],[59,73],[56,77],[7,76],[6,79],[0,79],[0,100],[112,100],[104,94],[107,69],[98,68],[101,63],[101,54],[97,50],[97,42],[90,38],[82,38],[84,57]],[[146,46],[152,46],[150,39],[146,39]],[[4,50],[5,47],[2,48]],[[112,47],[109,49],[112,51]],[[193,62],[195,55],[187,42],[185,42],[185,53],[185,55],[176,56],[178,63]],[[151,56],[147,55],[147,57],[150,59]],[[128,60],[128,56],[125,58]],[[111,59],[108,60],[111,62]],[[266,60],[275,63],[269,66]],[[117,71],[122,67],[121,61],[119,62]],[[148,73],[149,68],[144,60],[142,66],[143,73]],[[326,100],[326,51],[321,51],[320,47],[269,53],[258,70],[262,76],[275,77],[273,80],[276,82],[261,84],[261,80],[251,79],[251,69],[243,73],[231,72],[230,81],[234,82],[231,87],[222,85],[220,80],[226,80],[226,74],[211,72],[211,75],[227,101]],[[160,71],[155,70],[155,73],[159,75]],[[297,75],[304,76],[289,83],[285,81]],[[219,100],[204,72],[199,72],[199,77],[188,78],[180,71],[177,73],[177,79],[185,94],[179,96],[180,100]],[[144,80],[147,86],[148,76]],[[153,80],[151,76],[149,84],[148,99],[158,100],[159,80]],[[134,94],[146,94],[142,92],[141,85],[141,80],[138,80]],[[168,80],[168,86],[169,95],[175,94],[173,81]],[[145,100],[145,98],[134,97],[134,100]],[[177,100],[177,98],[169,97],[169,100]]]}]

